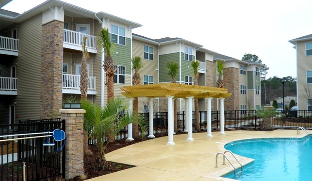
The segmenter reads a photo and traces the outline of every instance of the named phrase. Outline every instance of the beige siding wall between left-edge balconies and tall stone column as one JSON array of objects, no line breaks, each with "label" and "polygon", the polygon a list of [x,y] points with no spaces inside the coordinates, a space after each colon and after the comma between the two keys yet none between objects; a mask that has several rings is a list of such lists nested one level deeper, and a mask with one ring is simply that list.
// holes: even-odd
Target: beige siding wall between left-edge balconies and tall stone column
[{"label": "beige siding wall between left-edge balconies and tall stone column", "polygon": [[40,70],[42,42],[42,14],[22,22],[18,26],[19,52],[16,77],[18,96],[16,116],[20,120],[40,117]]}]

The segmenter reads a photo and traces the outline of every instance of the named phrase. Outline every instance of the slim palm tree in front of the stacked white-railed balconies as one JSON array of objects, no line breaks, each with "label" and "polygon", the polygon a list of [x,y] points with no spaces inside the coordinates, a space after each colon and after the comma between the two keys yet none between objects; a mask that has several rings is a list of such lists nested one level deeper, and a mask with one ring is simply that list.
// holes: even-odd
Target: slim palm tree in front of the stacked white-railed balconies
[{"label": "slim palm tree in front of the stacked white-railed balconies", "polygon": [[[80,73],[80,92],[81,99],[88,98],[88,69],[87,69],[87,59],[90,58],[89,52],[85,46],[87,37],[82,38],[82,61],[81,61],[81,73]],[[83,130],[83,151],[89,149],[88,145],[88,134],[86,130]]]}]

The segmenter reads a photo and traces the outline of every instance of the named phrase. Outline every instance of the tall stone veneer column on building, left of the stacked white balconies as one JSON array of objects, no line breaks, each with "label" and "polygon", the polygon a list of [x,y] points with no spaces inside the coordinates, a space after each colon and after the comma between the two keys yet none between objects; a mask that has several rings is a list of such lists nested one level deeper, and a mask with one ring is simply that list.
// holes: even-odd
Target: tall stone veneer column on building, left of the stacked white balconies
[{"label": "tall stone veneer column on building, left of the stacked white balconies", "polygon": [[64,22],[42,25],[40,118],[51,118],[62,108]]}]

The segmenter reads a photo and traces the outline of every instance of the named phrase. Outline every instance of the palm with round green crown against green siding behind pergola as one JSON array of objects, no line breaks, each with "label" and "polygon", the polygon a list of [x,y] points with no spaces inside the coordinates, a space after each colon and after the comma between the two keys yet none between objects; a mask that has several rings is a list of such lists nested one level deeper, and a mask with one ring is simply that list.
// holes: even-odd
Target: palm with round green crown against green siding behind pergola
[{"label": "palm with round green crown against green siding behind pergola", "polygon": [[[176,82],[176,76],[178,75],[180,70],[180,65],[176,61],[168,61],[166,62],[166,71],[168,71],[167,75],[169,75],[172,79],[172,83]],[[174,112],[174,132],[178,131],[178,119],[177,119],[177,99],[173,101],[173,112]]]}]

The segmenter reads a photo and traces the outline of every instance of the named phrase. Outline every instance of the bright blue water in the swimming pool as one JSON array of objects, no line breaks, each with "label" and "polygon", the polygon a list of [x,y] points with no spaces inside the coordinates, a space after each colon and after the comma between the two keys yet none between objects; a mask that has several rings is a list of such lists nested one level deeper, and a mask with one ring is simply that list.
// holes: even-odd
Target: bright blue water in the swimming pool
[{"label": "bright blue water in the swimming pool", "polygon": [[[312,138],[267,138],[234,141],[224,147],[255,161],[242,174],[224,177],[241,181],[312,181]],[[227,163],[226,163],[227,164]],[[236,172],[239,172],[237,169]]]}]

